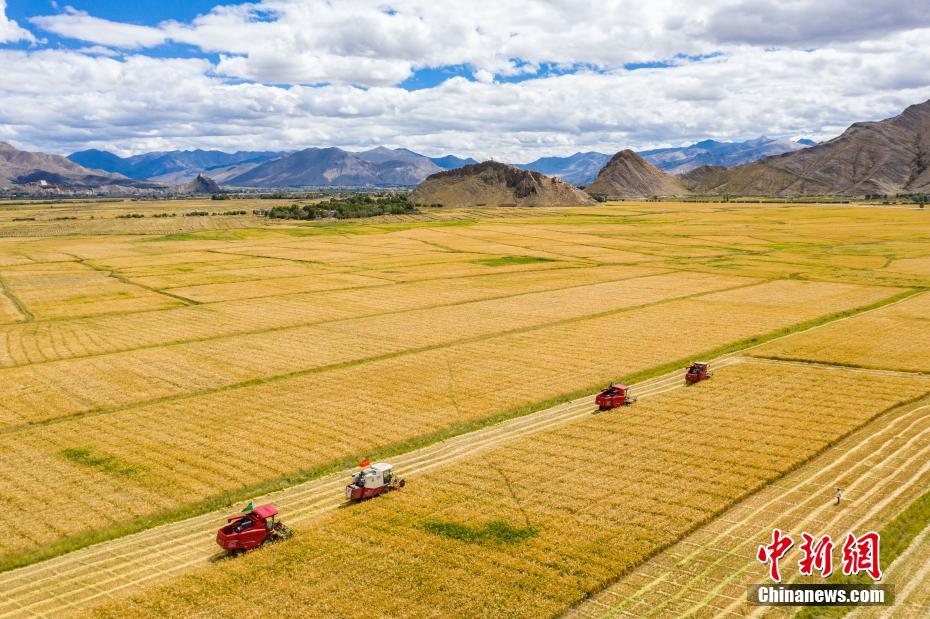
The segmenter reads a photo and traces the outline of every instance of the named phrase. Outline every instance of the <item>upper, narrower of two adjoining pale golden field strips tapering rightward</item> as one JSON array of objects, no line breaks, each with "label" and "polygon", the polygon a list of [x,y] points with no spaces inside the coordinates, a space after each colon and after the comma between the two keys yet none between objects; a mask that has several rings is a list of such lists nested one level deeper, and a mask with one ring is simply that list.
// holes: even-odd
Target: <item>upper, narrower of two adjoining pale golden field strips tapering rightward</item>
[{"label": "upper, narrower of two adjoining pale golden field strips tapering rightward", "polygon": [[324,320],[397,312],[622,280],[661,272],[639,267],[495,273],[482,277],[411,282],[369,290],[329,290],[202,306],[0,326],[0,366],[26,365],[172,342],[260,332]]}]

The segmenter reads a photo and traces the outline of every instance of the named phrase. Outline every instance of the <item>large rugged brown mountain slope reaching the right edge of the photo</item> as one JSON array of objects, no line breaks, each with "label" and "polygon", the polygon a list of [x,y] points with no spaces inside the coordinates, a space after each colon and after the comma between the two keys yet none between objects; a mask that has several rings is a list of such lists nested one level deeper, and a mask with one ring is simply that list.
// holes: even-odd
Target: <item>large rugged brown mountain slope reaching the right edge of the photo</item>
[{"label": "large rugged brown mountain slope reaching the right edge of the photo", "polygon": [[731,195],[894,194],[930,191],[930,101],[879,122],[855,123],[837,138],[728,170],[681,177],[696,193]]}]

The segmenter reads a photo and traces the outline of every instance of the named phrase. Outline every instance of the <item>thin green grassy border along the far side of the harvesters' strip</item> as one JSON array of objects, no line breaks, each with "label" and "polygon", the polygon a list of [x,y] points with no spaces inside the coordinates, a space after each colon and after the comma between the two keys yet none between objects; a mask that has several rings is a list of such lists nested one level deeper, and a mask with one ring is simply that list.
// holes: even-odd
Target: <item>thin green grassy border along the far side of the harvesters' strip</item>
[{"label": "thin green grassy border along the far side of the harvesters' strip", "polygon": [[[723,345],[715,349],[710,349],[697,355],[689,355],[688,357],[683,357],[675,359],[668,363],[665,363],[660,366],[653,367],[648,370],[643,370],[641,372],[636,372],[630,375],[625,375],[617,378],[617,381],[620,382],[629,382],[635,383],[640,381],[645,381],[654,377],[663,376],[679,370],[680,368],[689,362],[690,359],[696,357],[702,357],[710,359],[711,362],[720,362],[729,357],[734,357],[738,353],[744,352],[745,350],[751,350],[758,346],[762,346],[772,340],[780,339],[782,337],[788,337],[796,333],[804,333],[811,331],[813,329],[819,328],[826,324],[833,324],[835,322],[846,320],[853,316],[861,315],[864,313],[877,311],[883,307],[888,307],[896,303],[903,302],[904,300],[913,297],[917,294],[924,292],[924,289],[910,289],[903,292],[897,293],[885,299],[876,301],[874,303],[864,305],[858,308],[852,308],[849,310],[843,310],[840,312],[833,312],[825,314],[823,316],[797,323],[792,326],[784,327],[781,329],[776,329],[775,331],[769,332],[761,336],[755,336],[750,338],[744,338],[738,340],[731,344]],[[711,293],[707,293],[711,294]],[[453,438],[462,434],[467,434],[480,430],[484,427],[498,424],[502,421],[506,421],[512,418],[524,417],[532,413],[540,412],[547,408],[558,406],[569,402],[571,400],[579,399],[582,397],[591,397],[592,392],[595,392],[598,389],[597,385],[590,385],[583,389],[576,390],[571,393],[564,394],[555,398],[551,398],[544,402],[537,402],[532,405],[527,405],[524,407],[518,407],[516,409],[511,409],[504,411],[503,413],[492,415],[484,419],[473,420],[460,424],[458,426],[453,426],[451,428],[446,428],[432,434],[413,437],[406,441],[401,441],[393,445],[387,445],[380,449],[371,450],[370,456],[372,458],[387,458],[395,455],[400,455],[414,449],[428,446],[433,443],[440,442],[445,439]],[[216,495],[212,497],[206,497],[195,503],[190,503],[187,505],[182,505],[177,508],[170,510],[165,510],[160,513],[153,514],[147,517],[141,517],[134,520],[129,520],[124,523],[119,523],[113,525],[112,527],[88,531],[83,534],[63,538],[57,542],[41,546],[37,549],[28,550],[28,551],[15,551],[12,553],[7,553],[6,555],[0,556],[0,574],[7,572],[9,570],[28,566],[33,563],[40,561],[52,559],[57,556],[79,550],[97,543],[102,543],[110,541],[112,539],[123,537],[126,535],[138,533],[140,531],[150,529],[156,526],[161,526],[164,524],[170,524],[178,522],[184,519],[202,515],[204,513],[210,512],[221,505],[226,505],[230,501],[237,501],[243,498],[248,498],[249,496],[268,494],[270,492],[282,490],[287,487],[291,487],[300,483],[310,481],[319,477],[324,477],[325,475],[338,471],[341,469],[348,468],[352,466],[356,461],[355,456],[350,456],[342,460],[331,462],[328,465],[321,465],[304,471],[298,471],[294,474],[283,476],[277,479],[268,480],[262,482],[261,484],[256,484],[254,486],[241,488],[237,491],[227,492],[222,495]],[[748,496],[748,495],[747,495]],[[745,498],[745,497],[744,497]],[[743,499],[744,500],[744,499]],[[706,524],[706,523],[705,523]],[[646,557],[644,560],[648,559]]]}]

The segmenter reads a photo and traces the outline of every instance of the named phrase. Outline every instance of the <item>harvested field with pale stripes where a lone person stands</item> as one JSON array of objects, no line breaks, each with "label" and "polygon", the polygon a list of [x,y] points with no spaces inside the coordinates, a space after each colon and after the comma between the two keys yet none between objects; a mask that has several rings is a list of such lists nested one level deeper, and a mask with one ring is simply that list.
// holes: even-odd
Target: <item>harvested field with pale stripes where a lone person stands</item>
[{"label": "harvested field with pale stripes where a lone person stands", "polygon": [[[567,613],[569,617],[778,616],[746,604],[746,587],[763,582],[755,558],[779,527],[830,533],[875,528],[930,484],[930,404],[900,407],[867,424],[815,460],[765,488],[658,554]],[[840,507],[833,489],[844,489]],[[926,555],[921,557],[926,560]],[[795,574],[793,555],[783,562]],[[922,568],[916,568],[922,569]],[[786,578],[786,582],[791,579]],[[894,583],[889,574],[888,582]],[[915,594],[915,604],[924,600]],[[930,609],[923,609],[924,615]]]}]

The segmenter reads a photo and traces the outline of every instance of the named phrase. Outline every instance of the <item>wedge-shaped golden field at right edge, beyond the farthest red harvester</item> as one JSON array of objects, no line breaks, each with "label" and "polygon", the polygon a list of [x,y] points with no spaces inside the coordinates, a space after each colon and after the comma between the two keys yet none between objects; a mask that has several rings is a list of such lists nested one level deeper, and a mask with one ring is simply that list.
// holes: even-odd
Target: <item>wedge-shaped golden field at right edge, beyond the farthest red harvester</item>
[{"label": "wedge-shaped golden field at right edge, beyond the farthest red harvester", "polygon": [[762,357],[930,372],[930,293],[799,333],[753,351]]}]

